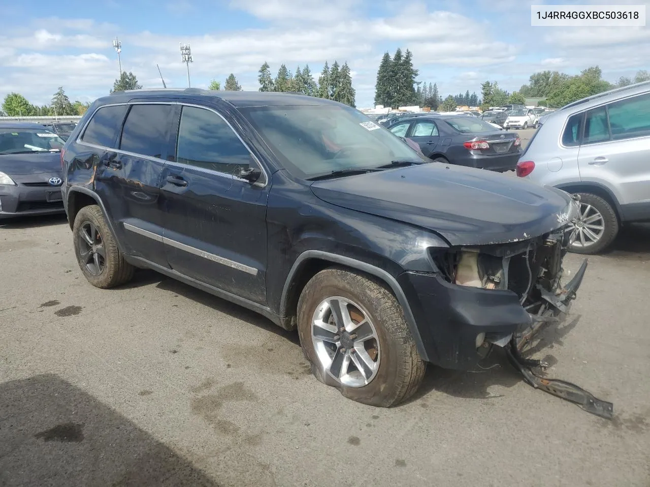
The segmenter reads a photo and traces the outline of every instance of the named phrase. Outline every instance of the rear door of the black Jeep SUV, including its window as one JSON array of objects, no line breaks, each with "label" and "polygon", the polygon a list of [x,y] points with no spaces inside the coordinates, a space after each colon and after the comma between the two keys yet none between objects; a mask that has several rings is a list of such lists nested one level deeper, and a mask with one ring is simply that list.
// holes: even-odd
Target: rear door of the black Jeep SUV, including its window
[{"label": "rear door of the black Jeep SUV, including its window", "polygon": [[[129,106],[116,149],[101,156],[97,192],[122,232],[125,253],[168,267],[162,234],[161,174],[172,126],[171,103]],[[119,230],[117,230],[119,229]]]}]

